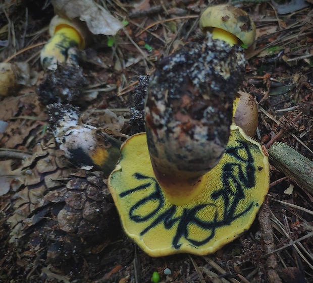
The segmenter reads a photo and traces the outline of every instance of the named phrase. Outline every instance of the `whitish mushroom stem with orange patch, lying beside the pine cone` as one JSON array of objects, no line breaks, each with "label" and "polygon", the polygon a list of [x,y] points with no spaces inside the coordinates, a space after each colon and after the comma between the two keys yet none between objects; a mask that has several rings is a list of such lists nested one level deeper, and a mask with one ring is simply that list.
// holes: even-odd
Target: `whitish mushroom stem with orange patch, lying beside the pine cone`
[{"label": "whitish mushroom stem with orange patch, lying beside the pine cone", "polygon": [[48,123],[60,149],[75,165],[100,168],[108,177],[120,157],[122,142],[80,121],[80,112],[70,104],[47,106]]}]

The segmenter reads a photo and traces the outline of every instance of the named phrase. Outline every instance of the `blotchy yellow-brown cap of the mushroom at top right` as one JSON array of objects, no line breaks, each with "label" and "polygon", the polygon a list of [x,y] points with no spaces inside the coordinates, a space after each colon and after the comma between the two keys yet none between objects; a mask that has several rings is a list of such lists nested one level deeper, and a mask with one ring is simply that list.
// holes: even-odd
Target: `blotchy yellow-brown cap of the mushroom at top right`
[{"label": "blotchy yellow-brown cap of the mushroom at top right", "polygon": [[200,29],[213,31],[213,28],[225,30],[239,38],[245,47],[255,40],[255,25],[249,15],[230,4],[208,7],[200,16]]}]

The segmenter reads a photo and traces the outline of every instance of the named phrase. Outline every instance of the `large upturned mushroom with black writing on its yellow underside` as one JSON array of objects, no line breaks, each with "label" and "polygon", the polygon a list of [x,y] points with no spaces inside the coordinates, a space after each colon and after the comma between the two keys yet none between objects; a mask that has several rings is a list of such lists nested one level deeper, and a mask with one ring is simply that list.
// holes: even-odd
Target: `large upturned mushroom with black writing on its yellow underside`
[{"label": "large upturned mushroom with black writing on its yellow underside", "polygon": [[213,253],[244,233],[269,188],[262,146],[232,125],[243,48],[211,36],[151,76],[146,133],[129,138],[108,186],[126,234],[150,256]]}]

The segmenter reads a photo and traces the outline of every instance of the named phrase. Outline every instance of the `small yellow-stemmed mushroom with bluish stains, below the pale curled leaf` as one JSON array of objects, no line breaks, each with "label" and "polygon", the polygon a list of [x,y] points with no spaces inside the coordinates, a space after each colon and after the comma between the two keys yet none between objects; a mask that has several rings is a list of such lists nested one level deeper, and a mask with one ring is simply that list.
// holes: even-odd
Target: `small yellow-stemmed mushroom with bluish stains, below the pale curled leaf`
[{"label": "small yellow-stemmed mushroom with bluish stains, below the pale curled leaf", "polygon": [[71,56],[70,48],[84,49],[91,40],[91,32],[85,22],[78,18],[69,21],[58,15],[50,22],[49,34],[51,38],[40,53],[40,62],[45,69],[53,69],[57,63],[65,63]]}]

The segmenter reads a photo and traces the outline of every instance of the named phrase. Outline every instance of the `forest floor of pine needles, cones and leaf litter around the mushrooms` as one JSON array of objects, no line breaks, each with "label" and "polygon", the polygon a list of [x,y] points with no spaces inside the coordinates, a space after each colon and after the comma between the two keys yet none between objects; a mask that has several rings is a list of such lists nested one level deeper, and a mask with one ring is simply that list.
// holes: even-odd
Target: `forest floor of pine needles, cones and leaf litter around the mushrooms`
[{"label": "forest floor of pine needles, cones and leaf litter around the mushrooms", "polygon": [[[152,74],[160,59],[195,41],[199,15],[208,3],[98,3],[124,27],[115,36],[94,36],[79,53],[77,73],[65,69],[51,77],[57,83],[46,88],[79,88],[81,97],[71,103],[80,107],[82,121],[125,141],[134,132],[129,110],[138,76]],[[304,156],[307,166],[300,169],[312,176],[312,4],[251,0],[234,5],[256,25],[256,43],[246,54],[239,89],[258,103],[254,138],[267,149],[275,142],[287,145],[283,163],[289,165],[270,162],[265,204],[245,234],[214,254],[166,257],[146,255],[125,236],[107,179],[101,172],[73,165],[55,143],[47,123],[49,102],[38,97],[38,86],[53,76],[39,60],[54,16],[50,1],[0,5],[0,61],[23,62],[19,87],[0,96],[0,282],[145,283],[151,282],[154,271],[161,282],[175,283],[313,282],[313,181],[292,167]],[[73,213],[77,195],[70,201],[68,197],[69,191],[79,191],[92,206],[90,188],[101,190],[103,215],[96,216],[96,224],[82,217],[91,210],[76,207]]]}]

